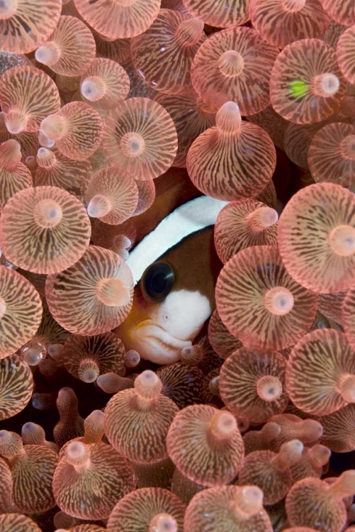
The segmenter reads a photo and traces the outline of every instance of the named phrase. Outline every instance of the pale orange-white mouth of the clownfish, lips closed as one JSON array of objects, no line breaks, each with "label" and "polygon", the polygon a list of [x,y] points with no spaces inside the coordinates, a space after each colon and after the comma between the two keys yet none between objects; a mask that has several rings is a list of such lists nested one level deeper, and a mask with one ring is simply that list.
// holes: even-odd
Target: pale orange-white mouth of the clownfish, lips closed
[{"label": "pale orange-white mouth of the clownfish, lips closed", "polygon": [[150,320],[142,321],[136,328],[141,341],[164,353],[181,353],[181,350],[192,345],[191,340],[182,340],[169,333],[164,327]]}]

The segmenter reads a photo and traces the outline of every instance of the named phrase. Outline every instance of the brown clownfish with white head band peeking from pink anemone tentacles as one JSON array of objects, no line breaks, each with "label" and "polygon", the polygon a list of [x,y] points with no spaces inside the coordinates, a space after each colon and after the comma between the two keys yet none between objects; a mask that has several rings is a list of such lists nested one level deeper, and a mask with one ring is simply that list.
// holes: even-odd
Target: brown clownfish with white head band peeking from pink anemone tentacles
[{"label": "brown clownfish with white head band peeking from pink anemone tentacles", "polygon": [[[156,209],[160,221],[126,260],[135,282],[133,307],[115,329],[127,350],[160,365],[180,360],[181,350],[192,345],[203,328],[215,309],[215,283],[222,268],[213,226],[227,201],[198,196],[197,189],[191,194],[191,182],[184,179],[179,184],[183,202],[176,207],[173,199],[173,209],[167,213],[169,199],[178,189],[172,187],[162,195],[165,208]],[[152,216],[145,220],[152,227]]]}]

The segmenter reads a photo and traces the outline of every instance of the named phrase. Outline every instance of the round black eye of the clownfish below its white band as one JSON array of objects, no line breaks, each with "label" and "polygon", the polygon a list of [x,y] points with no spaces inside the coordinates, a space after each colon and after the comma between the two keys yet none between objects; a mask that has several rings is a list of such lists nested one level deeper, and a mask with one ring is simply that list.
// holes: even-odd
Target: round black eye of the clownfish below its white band
[{"label": "round black eye of the clownfish below its white band", "polygon": [[167,262],[153,262],[142,277],[142,292],[152,301],[164,301],[175,280],[174,270]]}]

